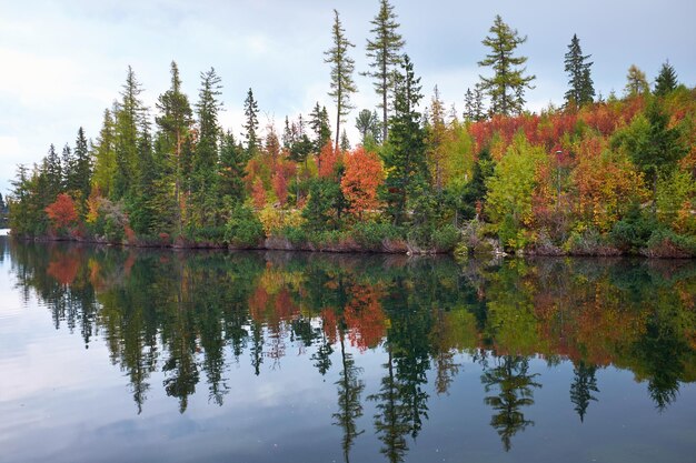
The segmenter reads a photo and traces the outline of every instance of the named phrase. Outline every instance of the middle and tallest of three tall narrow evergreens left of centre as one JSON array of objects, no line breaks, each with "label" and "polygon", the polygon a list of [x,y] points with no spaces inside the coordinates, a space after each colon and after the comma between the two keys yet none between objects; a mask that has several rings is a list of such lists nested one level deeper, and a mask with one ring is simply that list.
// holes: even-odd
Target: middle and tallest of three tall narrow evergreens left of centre
[{"label": "middle and tallest of three tall narrow evergreens left of centre", "polygon": [[[157,101],[159,115],[155,122],[159,128],[161,140],[162,168],[165,169],[162,181],[167,178],[173,182],[175,227],[181,233],[181,200],[183,188],[183,161],[185,149],[190,137],[193,123],[191,105],[188,97],[181,92],[181,79],[176,62],[171,62],[171,87],[159,95]],[[167,201],[169,202],[169,201]]]}]

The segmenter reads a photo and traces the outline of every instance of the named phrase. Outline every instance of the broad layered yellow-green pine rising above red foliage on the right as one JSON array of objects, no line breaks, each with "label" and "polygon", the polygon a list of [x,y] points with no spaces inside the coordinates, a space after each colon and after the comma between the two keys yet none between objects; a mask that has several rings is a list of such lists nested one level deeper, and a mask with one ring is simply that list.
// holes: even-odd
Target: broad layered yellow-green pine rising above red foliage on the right
[{"label": "broad layered yellow-green pine rising above red foliage on the right", "polygon": [[490,53],[478,66],[491,67],[494,76],[479,76],[481,90],[490,97],[493,114],[518,114],[525,107],[525,89],[533,89],[530,82],[536,79],[535,76],[524,76],[526,68],[519,68],[527,62],[527,57],[513,54],[517,46],[527,41],[527,37],[519,37],[517,30],[503,22],[500,16],[496,16],[489,31],[491,36],[486,37],[483,43],[490,48]]}]

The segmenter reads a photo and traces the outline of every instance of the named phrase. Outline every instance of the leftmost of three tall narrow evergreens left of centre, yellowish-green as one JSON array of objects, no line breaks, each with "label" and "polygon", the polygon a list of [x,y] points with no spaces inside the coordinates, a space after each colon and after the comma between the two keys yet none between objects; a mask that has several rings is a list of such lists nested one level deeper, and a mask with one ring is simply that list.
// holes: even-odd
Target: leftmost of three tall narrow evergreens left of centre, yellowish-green
[{"label": "leftmost of three tall narrow evergreens left of centre, yellowish-green", "polygon": [[130,192],[138,179],[138,125],[142,118],[142,92],[132,68],[128,67],[121,101],[116,111],[116,179],[113,197],[120,199]]}]

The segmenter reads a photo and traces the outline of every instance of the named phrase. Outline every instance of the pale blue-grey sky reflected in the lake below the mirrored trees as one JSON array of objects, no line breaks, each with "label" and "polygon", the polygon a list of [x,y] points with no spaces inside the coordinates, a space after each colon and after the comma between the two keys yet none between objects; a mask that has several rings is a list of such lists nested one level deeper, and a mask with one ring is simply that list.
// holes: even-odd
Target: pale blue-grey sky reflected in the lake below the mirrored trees
[{"label": "pale blue-grey sky reflected in the lake below the mirrored trees", "polygon": [[[64,324],[57,330],[36,295],[22,301],[10,266],[8,258],[0,263],[0,462],[344,461],[344,434],[332,416],[338,344],[325,376],[312,365],[317,346],[301,346],[299,340],[286,339],[285,356],[266,358],[258,376],[249,343],[238,361],[227,346],[221,406],[210,399],[199,353],[200,381],[183,413],[178,400],[167,396],[160,358],[138,414],[128,372],[109,361],[103,331],[84,349],[79,326],[72,333]],[[376,401],[367,397],[379,392],[386,374],[386,346],[359,351],[347,342],[346,349],[365,383],[362,415],[356,420],[356,430],[365,433],[355,439],[350,460],[385,461],[375,435]],[[684,462],[696,451],[693,383],[682,384],[676,403],[658,412],[646,382],[632,371],[598,368],[597,401],[589,402],[581,423],[569,401],[573,363],[535,356],[528,374],[537,374],[541,386],[534,387],[534,404],[521,407],[534,424],[511,436],[506,453],[490,425],[493,409],[484,402],[498,391],[485,391],[484,370],[470,355],[454,360],[458,373],[444,394],[436,391],[430,361],[421,385],[428,417],[415,442],[406,436],[405,461]],[[489,366],[501,363],[489,358]]]}]

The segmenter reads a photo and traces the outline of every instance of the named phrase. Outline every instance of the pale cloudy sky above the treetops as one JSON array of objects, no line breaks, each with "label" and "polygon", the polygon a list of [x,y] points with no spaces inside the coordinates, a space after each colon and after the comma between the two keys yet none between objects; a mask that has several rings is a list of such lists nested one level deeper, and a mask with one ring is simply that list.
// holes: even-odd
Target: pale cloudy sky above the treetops
[{"label": "pale cloudy sky above the treetops", "polygon": [[[334,9],[356,44],[357,108],[345,127],[357,142],[355,117],[374,109],[365,44],[378,0],[0,0],[0,192],[11,189],[17,165],[32,164],[51,143],[74,144],[79,127],[96,139],[131,66],[146,104],[169,85],[175,60],[183,90],[197,100],[201,71],[222,79],[225,129],[241,133],[242,104],[252,88],[262,127],[280,128],[319,101],[332,114],[329,64]],[[679,82],[696,84],[696,2],[693,0],[391,0],[406,40],[405,51],[421,77],[427,105],[438,85],[441,99],[460,113],[464,93],[489,76],[477,66],[481,40],[496,14],[526,43],[527,72],[536,76],[527,109],[559,105],[567,88],[564,54],[574,33],[591,54],[595,89],[620,94],[630,64],[652,82],[665,60]],[[335,118],[331,117],[331,120]]]}]

